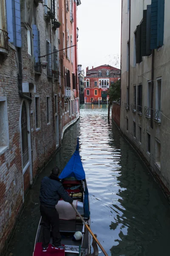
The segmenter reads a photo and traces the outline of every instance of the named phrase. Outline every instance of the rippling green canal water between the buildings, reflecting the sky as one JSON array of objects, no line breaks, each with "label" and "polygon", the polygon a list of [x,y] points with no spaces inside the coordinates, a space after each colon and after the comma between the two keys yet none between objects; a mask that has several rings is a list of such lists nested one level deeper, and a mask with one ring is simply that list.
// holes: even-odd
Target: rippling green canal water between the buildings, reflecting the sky
[{"label": "rippling green canal water between the buildings, reflecting the sky", "polygon": [[61,149],[29,192],[6,256],[32,256],[41,179],[56,165],[64,168],[77,136],[90,195],[91,229],[108,255],[170,255],[170,205],[117,127],[108,124],[107,113],[107,105],[81,106],[80,119],[65,132]]}]

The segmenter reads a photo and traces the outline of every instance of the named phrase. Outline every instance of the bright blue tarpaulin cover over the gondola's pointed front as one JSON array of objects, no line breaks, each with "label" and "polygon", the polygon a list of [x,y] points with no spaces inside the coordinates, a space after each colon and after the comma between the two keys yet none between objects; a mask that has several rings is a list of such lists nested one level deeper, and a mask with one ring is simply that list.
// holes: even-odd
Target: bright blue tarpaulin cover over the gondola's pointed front
[{"label": "bright blue tarpaulin cover over the gondola's pointed front", "polygon": [[74,154],[68,161],[62,173],[59,175],[60,179],[64,179],[66,177],[75,177],[77,180],[85,179],[85,171],[83,169],[82,161],[79,155],[79,138],[77,139],[77,147]]}]

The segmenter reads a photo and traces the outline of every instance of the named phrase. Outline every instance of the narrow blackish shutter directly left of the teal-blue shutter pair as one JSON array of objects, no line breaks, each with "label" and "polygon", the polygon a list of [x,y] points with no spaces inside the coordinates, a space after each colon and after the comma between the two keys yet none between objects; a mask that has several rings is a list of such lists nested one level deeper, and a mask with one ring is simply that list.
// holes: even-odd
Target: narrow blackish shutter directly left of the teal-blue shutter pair
[{"label": "narrow blackish shutter directly left of the teal-blue shutter pair", "polygon": [[151,25],[151,5],[147,5],[147,21],[146,21],[146,55],[152,53],[150,49],[150,25]]}]

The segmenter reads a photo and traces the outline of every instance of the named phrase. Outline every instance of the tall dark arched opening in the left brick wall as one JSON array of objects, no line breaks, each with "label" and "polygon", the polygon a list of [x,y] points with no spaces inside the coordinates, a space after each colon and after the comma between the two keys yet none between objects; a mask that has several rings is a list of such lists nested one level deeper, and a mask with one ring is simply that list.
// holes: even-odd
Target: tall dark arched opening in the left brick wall
[{"label": "tall dark arched opening in the left brick wall", "polygon": [[22,154],[23,154],[23,168],[24,168],[29,160],[27,113],[26,113],[25,102],[23,102],[22,111],[21,111],[21,136],[22,136]]}]

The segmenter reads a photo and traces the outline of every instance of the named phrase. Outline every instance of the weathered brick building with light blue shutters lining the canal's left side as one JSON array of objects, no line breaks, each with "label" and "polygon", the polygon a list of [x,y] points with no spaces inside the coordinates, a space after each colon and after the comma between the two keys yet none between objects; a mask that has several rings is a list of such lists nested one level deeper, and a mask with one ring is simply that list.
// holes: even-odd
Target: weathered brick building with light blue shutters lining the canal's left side
[{"label": "weathered brick building with light blue shutters lining the canal's left side", "polygon": [[64,2],[0,1],[0,254],[34,178],[61,145],[65,129],[79,118],[79,93],[72,87],[68,118],[57,52],[64,48],[58,29]]}]

